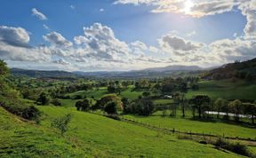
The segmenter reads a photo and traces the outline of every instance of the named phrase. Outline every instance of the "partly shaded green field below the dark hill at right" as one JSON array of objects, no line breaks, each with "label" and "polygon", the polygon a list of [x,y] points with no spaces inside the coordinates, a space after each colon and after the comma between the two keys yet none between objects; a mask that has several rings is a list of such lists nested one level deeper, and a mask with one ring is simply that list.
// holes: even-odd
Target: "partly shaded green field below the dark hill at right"
[{"label": "partly shaded green field below the dark hill at right", "polygon": [[198,91],[189,90],[188,99],[195,95],[208,95],[212,99],[256,99],[256,84],[237,81],[202,81]]}]

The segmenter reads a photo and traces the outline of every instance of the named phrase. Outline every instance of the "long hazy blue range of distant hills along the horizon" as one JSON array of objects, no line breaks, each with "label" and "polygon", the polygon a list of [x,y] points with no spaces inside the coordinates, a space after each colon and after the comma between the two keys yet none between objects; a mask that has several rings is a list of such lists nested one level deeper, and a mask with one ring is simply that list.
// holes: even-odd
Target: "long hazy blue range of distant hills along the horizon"
[{"label": "long hazy blue range of distant hills along the horizon", "polygon": [[152,67],[132,71],[98,71],[98,72],[66,72],[66,71],[42,71],[12,68],[12,75],[26,75],[36,78],[70,78],[70,77],[109,77],[109,78],[155,78],[155,77],[180,77],[184,75],[199,75],[204,72],[202,67],[197,66],[168,66]]}]

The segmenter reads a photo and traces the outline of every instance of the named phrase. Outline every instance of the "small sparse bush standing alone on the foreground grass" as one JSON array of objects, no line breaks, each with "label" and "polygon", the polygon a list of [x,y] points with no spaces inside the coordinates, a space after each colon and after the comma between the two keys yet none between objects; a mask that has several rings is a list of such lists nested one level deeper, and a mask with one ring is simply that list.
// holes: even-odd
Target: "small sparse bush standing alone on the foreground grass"
[{"label": "small sparse bush standing alone on the foreground grass", "polygon": [[55,118],[52,123],[51,126],[60,130],[61,136],[63,136],[63,134],[68,131],[68,123],[71,122],[71,114],[68,115],[64,115],[62,117],[59,118]]}]

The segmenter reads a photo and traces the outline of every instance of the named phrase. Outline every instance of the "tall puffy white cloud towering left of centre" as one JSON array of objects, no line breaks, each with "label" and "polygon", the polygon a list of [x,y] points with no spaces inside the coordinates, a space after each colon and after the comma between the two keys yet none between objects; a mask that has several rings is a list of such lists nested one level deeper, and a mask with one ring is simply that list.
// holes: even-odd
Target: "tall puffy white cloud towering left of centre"
[{"label": "tall puffy white cloud towering left of centre", "polygon": [[100,59],[123,59],[131,51],[129,46],[118,40],[111,28],[94,23],[91,27],[84,28],[84,36],[75,36],[76,44],[84,45],[87,57]]}]

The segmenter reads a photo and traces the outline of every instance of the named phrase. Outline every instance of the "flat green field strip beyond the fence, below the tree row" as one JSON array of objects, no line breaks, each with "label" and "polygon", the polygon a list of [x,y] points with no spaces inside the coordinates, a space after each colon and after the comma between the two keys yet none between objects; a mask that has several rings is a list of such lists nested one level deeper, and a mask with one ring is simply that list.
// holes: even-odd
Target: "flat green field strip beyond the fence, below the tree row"
[{"label": "flat green field strip beyond the fence, below the tree row", "polygon": [[223,133],[225,136],[231,137],[242,137],[242,138],[256,138],[256,129],[245,128],[239,125],[232,125],[224,122],[200,122],[193,121],[187,118],[172,118],[169,116],[134,116],[134,115],[126,115],[126,118],[130,118],[132,120],[136,120],[139,122],[145,122],[152,125],[156,125],[162,128],[168,128],[183,131],[192,131],[192,132],[200,132],[200,133],[212,133],[215,135],[222,136]]}]

